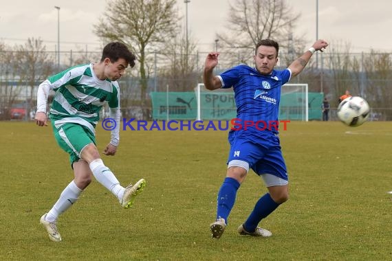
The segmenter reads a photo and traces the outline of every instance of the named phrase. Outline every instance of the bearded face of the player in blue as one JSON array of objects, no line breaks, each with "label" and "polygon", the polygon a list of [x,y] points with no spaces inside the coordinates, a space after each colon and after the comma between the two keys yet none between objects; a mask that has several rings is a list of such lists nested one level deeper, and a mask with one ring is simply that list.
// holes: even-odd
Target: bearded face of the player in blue
[{"label": "bearded face of the player in blue", "polygon": [[254,64],[261,74],[270,74],[278,63],[275,47],[261,45],[254,56]]}]

